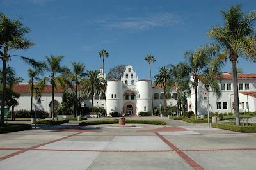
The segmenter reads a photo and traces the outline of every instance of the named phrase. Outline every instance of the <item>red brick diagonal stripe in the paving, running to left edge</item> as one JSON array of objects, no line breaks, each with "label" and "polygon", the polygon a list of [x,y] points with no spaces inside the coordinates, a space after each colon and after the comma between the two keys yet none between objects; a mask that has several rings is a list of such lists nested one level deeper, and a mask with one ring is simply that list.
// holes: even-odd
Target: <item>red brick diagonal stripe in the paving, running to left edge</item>
[{"label": "red brick diagonal stripe in the paving, running to left edge", "polygon": [[44,145],[46,145],[46,144],[50,144],[50,143],[54,143],[54,142],[57,142],[57,141],[61,141],[61,140],[63,140],[63,139],[67,139],[68,137],[72,137],[72,136],[74,136],[74,135],[81,134],[81,133],[82,133],[82,132],[78,132],[78,133],[76,133],[76,134],[67,135],[67,136],[65,136],[65,137],[61,137],[60,139],[56,139],[56,140],[53,140],[53,141],[49,141],[49,142],[47,142],[47,143],[38,144],[38,145],[36,145],[36,146],[32,146],[32,147],[26,148],[26,149],[24,149],[24,150],[16,151],[15,153],[11,153],[10,155],[6,155],[6,156],[4,156],[4,157],[0,157],[0,161],[1,161],[1,160],[5,160],[5,159],[7,159],[7,158],[14,157],[14,156],[16,156],[16,155],[19,155],[20,153],[24,153],[24,152],[29,151],[29,150],[34,150],[35,148],[38,148],[38,147],[40,147],[40,146],[44,146]]}]

